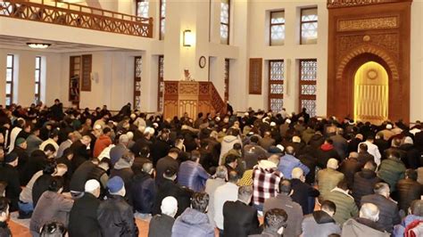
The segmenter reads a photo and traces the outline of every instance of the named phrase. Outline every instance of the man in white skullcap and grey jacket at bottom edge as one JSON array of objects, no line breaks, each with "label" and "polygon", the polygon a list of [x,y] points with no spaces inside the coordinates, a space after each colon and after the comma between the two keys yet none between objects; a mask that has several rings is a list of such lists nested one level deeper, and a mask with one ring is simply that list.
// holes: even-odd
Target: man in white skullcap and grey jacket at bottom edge
[{"label": "man in white skullcap and grey jacket at bottom edge", "polygon": [[150,220],[148,237],[171,237],[175,215],[178,211],[178,200],[166,197],[162,200],[162,214],[157,214]]}]

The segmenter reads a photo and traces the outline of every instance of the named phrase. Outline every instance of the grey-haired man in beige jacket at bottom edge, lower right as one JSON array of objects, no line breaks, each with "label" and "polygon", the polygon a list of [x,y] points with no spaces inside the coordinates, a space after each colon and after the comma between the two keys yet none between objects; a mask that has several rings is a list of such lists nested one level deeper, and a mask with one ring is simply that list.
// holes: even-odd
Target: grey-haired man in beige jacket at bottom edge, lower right
[{"label": "grey-haired man in beige jacket at bottom edge, lower right", "polygon": [[361,237],[388,237],[384,228],[377,225],[379,208],[371,203],[364,203],[360,209],[360,217],[347,220],[342,228],[341,236]]}]

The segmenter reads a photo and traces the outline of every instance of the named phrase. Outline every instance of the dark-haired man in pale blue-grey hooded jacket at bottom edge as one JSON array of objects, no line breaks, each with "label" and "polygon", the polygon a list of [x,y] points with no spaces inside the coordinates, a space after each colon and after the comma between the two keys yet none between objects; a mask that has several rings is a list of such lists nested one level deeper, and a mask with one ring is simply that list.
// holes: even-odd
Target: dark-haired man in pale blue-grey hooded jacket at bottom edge
[{"label": "dark-haired man in pale blue-grey hooded jacket at bottom edge", "polygon": [[187,208],[175,221],[172,236],[214,237],[214,226],[205,214],[209,206],[209,194],[195,192],[191,208]]}]

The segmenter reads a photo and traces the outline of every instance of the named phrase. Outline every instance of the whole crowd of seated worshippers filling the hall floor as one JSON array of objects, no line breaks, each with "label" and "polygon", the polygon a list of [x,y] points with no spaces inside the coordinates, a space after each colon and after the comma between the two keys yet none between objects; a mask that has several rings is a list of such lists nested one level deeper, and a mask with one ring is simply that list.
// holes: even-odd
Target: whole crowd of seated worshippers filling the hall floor
[{"label": "whole crowd of seated worshippers filling the hall floor", "polygon": [[423,236],[419,121],[56,100],[2,107],[0,145],[2,237],[10,212],[32,236]]}]

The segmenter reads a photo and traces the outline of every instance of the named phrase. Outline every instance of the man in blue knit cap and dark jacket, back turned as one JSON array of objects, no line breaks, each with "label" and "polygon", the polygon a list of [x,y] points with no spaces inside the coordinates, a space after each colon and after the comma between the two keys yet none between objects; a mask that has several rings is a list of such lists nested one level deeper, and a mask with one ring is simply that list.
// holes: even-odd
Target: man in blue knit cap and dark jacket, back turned
[{"label": "man in blue knit cap and dark jacket, back turned", "polygon": [[109,195],[100,203],[97,220],[104,237],[138,236],[132,207],[124,200],[125,184],[120,176],[114,176],[107,182]]}]

